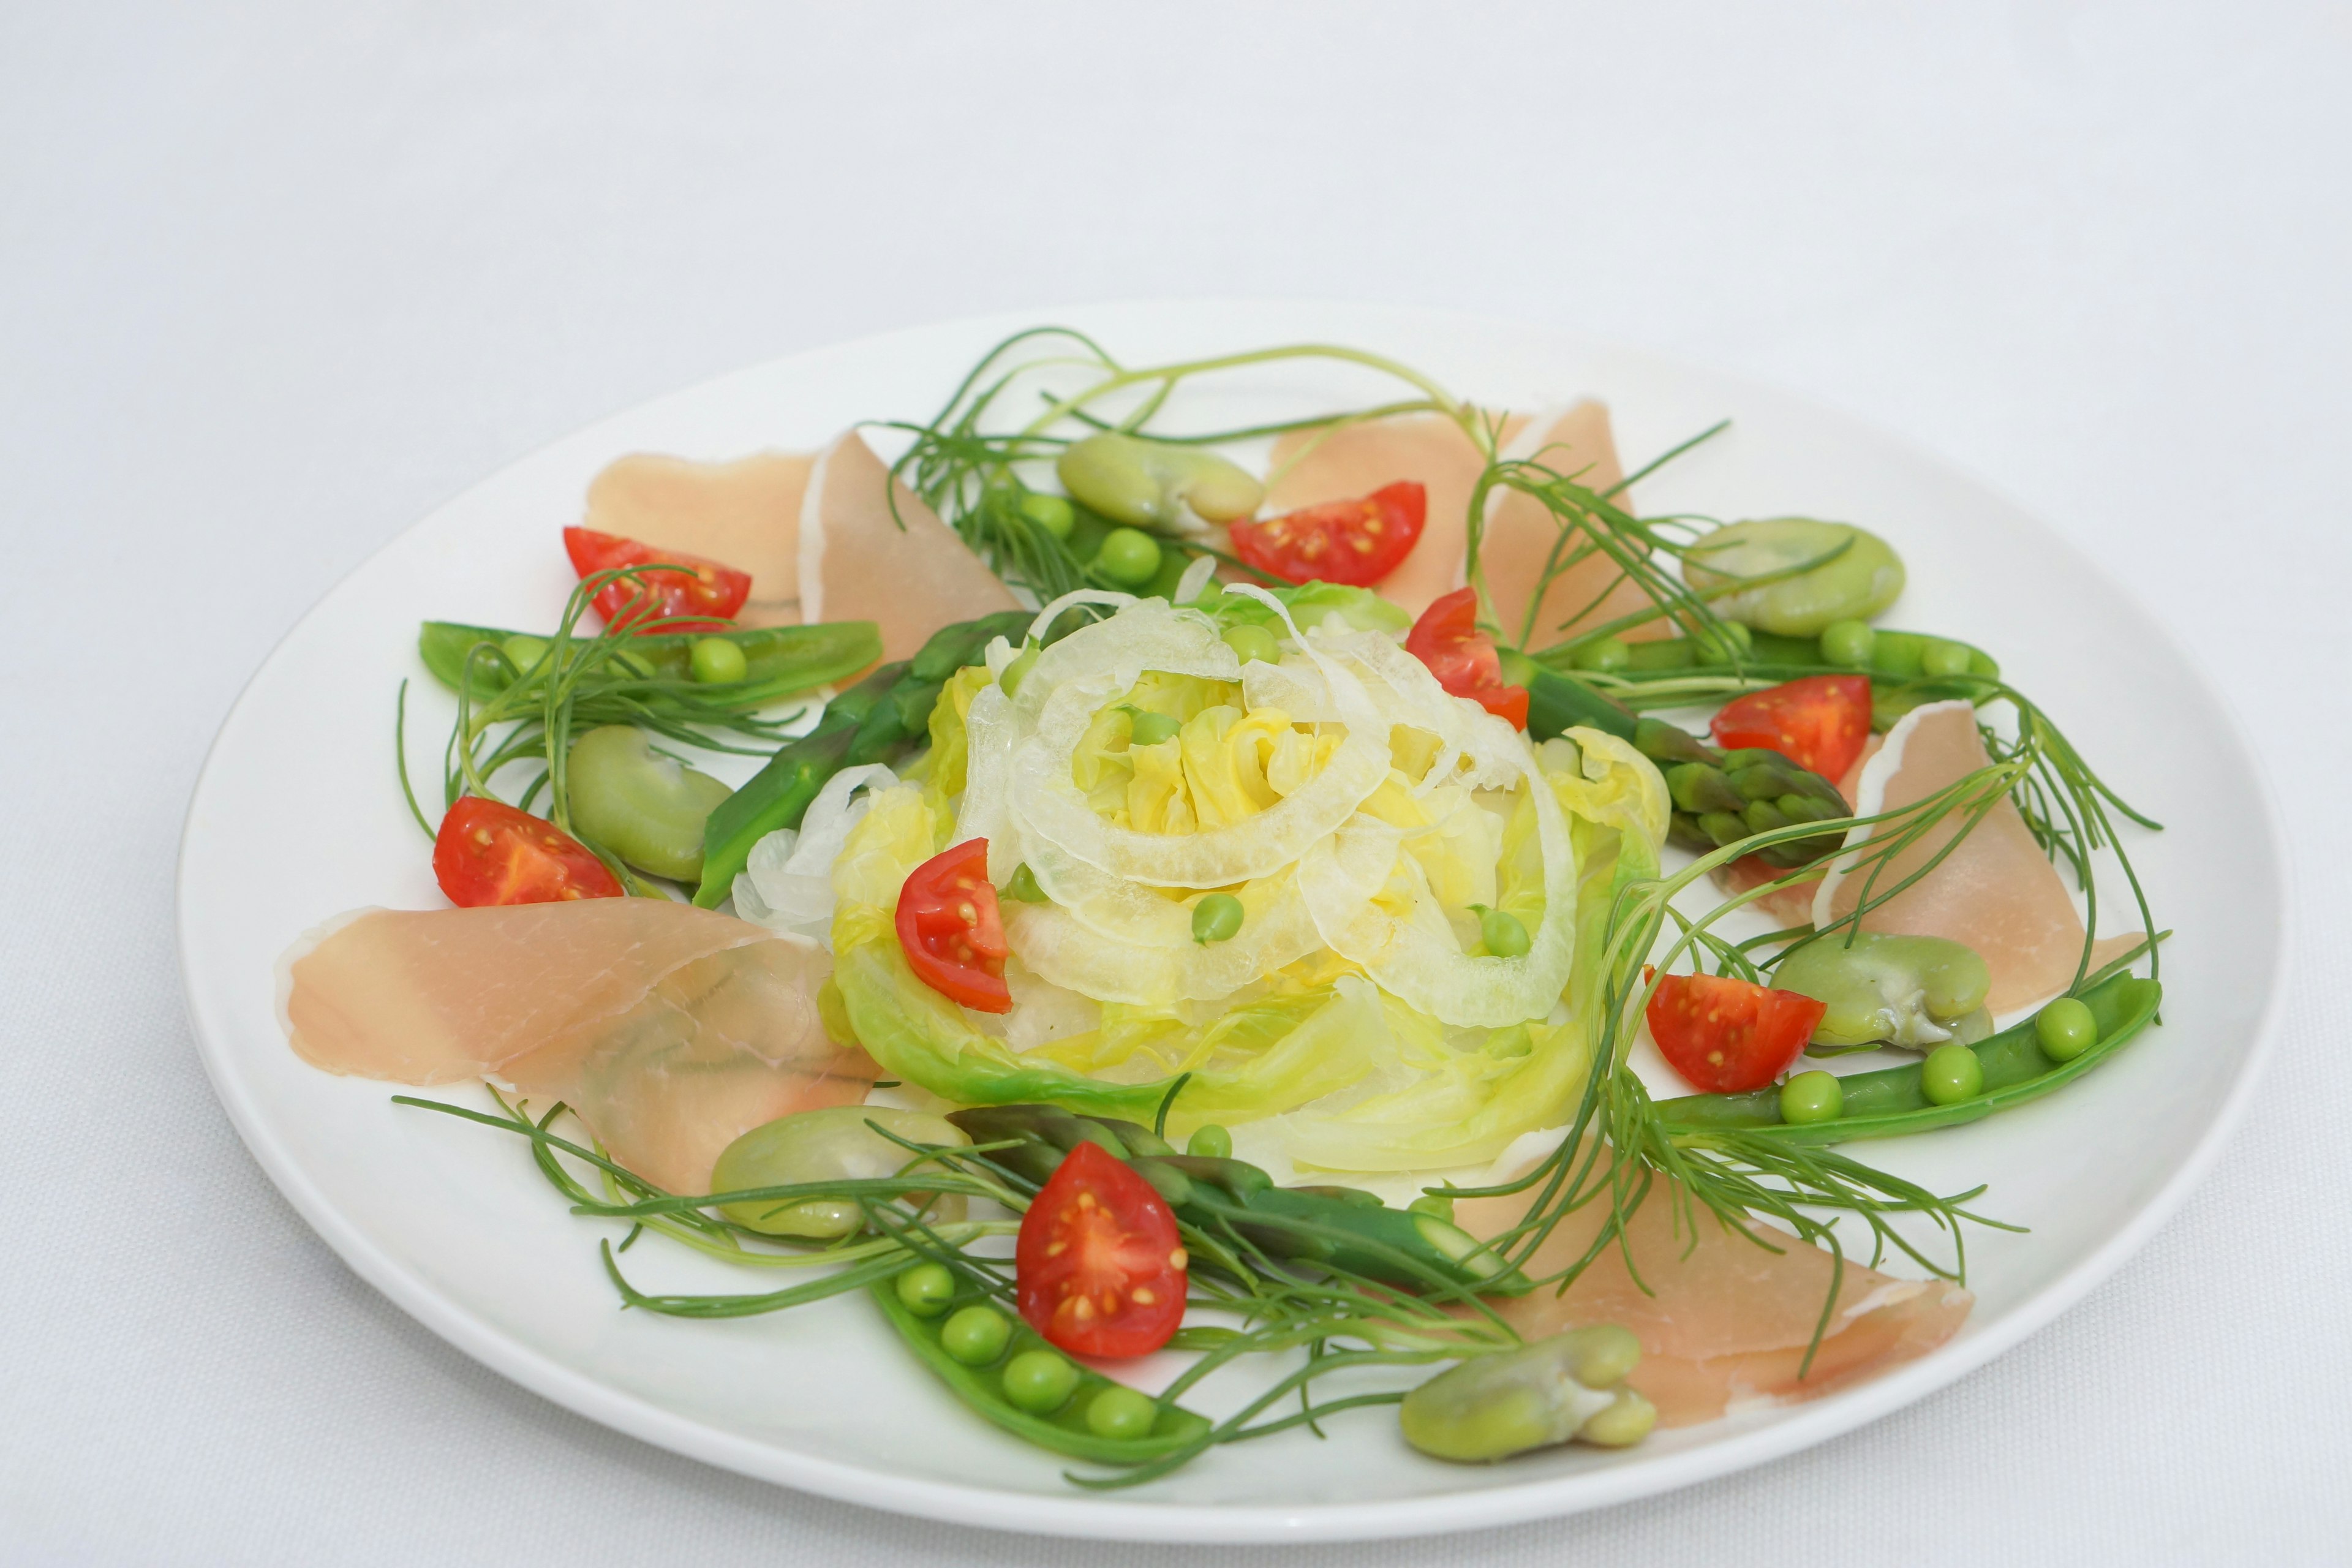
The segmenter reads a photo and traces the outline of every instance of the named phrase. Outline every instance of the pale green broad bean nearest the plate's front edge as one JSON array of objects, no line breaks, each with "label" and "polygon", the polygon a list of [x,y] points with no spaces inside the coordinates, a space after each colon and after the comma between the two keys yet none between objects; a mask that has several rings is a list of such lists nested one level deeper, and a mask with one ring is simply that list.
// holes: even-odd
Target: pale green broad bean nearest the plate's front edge
[{"label": "pale green broad bean nearest the plate's front edge", "polygon": [[1616,1324],[1571,1328],[1430,1378],[1397,1406],[1397,1422],[1421,1453],[1472,1465],[1569,1439],[1623,1448],[1658,1422],[1623,1387],[1639,1361],[1642,1342]]}]

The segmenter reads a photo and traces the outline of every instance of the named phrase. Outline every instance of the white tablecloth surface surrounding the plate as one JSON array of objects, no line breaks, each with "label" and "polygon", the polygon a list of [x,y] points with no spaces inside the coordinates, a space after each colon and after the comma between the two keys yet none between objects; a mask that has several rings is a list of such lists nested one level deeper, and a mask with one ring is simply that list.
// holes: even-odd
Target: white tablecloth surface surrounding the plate
[{"label": "white tablecloth surface surrounding the plate", "polygon": [[473,1366],[247,1159],[169,936],[221,712],[447,494],[743,362],[1157,294],[1479,308],[1863,411],[2154,604],[2256,726],[2307,851],[2267,1093],[2185,1213],[2011,1356],[1653,1502],[1183,1556],[2343,1554],[2340,7],[652,16],[0,14],[0,1556],[1176,1561],[771,1490]]}]

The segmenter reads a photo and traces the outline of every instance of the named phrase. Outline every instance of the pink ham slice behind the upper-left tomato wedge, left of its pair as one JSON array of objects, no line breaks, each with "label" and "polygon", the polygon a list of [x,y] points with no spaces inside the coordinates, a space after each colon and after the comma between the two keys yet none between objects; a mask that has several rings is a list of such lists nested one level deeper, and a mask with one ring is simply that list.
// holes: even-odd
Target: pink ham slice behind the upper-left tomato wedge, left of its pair
[{"label": "pink ham slice behind the upper-left tomato wedge, left of its pair", "polygon": [[739,625],[800,625],[800,501],[816,454],[694,463],[635,451],[588,482],[583,529],[750,574]]}]

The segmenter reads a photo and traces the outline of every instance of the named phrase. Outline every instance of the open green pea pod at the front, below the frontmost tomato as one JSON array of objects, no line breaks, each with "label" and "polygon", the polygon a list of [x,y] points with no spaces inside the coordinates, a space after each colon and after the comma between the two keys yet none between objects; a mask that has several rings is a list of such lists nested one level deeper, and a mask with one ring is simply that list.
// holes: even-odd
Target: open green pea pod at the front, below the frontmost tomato
[{"label": "open green pea pod at the front, below the frontmost tomato", "polygon": [[[1047,1345],[1035,1328],[1021,1324],[995,1307],[974,1305],[946,1319],[924,1319],[906,1309],[898,1291],[875,1286],[873,1298],[882,1314],[908,1342],[908,1349],[946,1382],[971,1410],[1014,1436],[1040,1448],[1091,1460],[1096,1465],[1148,1465],[1157,1458],[1197,1446],[1209,1434],[1209,1422],[1176,1403],[1145,1401],[1152,1420],[1143,1434],[1103,1436],[1089,1422],[1094,1401],[1108,1389],[1131,1392],[1101,1373],[1075,1366],[1058,1349]],[[985,1312],[1004,1338],[995,1354],[964,1361],[950,1354],[943,1342],[960,1324],[976,1324],[969,1314]],[[957,1340],[962,1354],[988,1349],[985,1340],[962,1331]],[[1141,1394],[1138,1394],[1141,1399]]]}]

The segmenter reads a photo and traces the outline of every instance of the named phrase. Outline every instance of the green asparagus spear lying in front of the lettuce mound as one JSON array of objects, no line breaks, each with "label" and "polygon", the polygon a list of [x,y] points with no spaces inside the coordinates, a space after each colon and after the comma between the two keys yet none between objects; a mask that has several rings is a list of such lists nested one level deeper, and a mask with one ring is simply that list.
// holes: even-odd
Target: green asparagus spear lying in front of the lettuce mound
[{"label": "green asparagus spear lying in front of the lettuce mound", "polygon": [[[978,1105],[948,1121],[990,1150],[1014,1175],[1044,1185],[1080,1143],[1096,1143],[1136,1168],[1185,1225],[1235,1232],[1268,1258],[1312,1262],[1406,1291],[1461,1286],[1526,1291],[1501,1255],[1432,1213],[1388,1208],[1357,1187],[1277,1187],[1258,1166],[1176,1154],[1150,1128],[1110,1117],[1075,1117],[1054,1105]],[[1016,1143],[1014,1143],[1016,1140]]]}]

